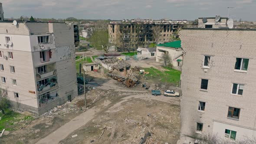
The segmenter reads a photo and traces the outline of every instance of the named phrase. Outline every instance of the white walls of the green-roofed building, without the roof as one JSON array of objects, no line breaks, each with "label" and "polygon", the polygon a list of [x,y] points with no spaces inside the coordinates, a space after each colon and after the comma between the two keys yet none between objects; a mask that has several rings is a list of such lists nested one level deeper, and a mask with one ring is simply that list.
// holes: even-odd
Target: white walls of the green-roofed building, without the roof
[{"label": "white walls of the green-roofed building, without the roof", "polygon": [[[156,51],[156,62],[161,62],[162,55],[164,52],[161,52],[160,50],[167,51],[169,56],[171,57],[171,64],[175,67],[178,66],[178,62],[174,60],[175,56],[180,55],[183,51],[181,49],[174,49],[174,48],[167,48],[167,47],[162,47],[162,46],[157,46],[157,51]],[[179,57],[178,59],[183,59],[182,56]],[[163,63],[163,62],[161,62]]]}]

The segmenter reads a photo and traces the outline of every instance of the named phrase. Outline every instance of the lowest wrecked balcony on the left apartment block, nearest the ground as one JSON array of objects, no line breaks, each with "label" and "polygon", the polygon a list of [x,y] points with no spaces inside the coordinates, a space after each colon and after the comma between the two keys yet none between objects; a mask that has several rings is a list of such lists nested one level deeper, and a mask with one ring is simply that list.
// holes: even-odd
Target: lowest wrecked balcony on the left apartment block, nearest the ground
[{"label": "lowest wrecked balcony on the left apartment block, nearest the ground", "polygon": [[58,98],[59,98],[59,95],[57,91],[43,93],[38,97],[39,107],[43,107],[47,104],[53,103],[54,101],[57,101]]}]

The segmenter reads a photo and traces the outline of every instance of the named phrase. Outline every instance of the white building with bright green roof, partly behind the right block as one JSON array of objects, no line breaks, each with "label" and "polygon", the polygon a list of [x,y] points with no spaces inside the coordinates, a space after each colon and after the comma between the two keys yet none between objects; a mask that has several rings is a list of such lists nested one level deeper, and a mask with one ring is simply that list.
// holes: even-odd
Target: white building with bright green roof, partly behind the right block
[{"label": "white building with bright green roof, partly behind the right block", "polygon": [[181,67],[183,60],[183,49],[181,48],[181,40],[157,45],[157,62],[163,63],[162,56],[164,53],[169,54],[171,58],[171,64],[174,67]]}]

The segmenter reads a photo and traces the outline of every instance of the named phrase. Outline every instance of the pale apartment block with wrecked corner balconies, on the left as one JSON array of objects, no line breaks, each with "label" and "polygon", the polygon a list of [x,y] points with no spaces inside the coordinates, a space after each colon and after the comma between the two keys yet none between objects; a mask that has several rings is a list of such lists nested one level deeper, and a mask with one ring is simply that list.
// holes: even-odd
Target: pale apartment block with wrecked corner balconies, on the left
[{"label": "pale apartment block with wrecked corner balconies, on the left", "polygon": [[73,25],[0,21],[0,87],[36,115],[77,95]]}]

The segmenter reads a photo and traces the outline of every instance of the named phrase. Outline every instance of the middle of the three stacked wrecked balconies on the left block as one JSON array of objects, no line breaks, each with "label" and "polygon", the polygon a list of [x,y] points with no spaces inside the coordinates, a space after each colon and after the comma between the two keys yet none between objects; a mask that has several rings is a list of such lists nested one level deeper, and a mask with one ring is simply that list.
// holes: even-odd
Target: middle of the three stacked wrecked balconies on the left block
[{"label": "middle of the three stacked wrecked balconies on the left block", "polygon": [[43,93],[50,91],[58,87],[57,77],[53,76],[47,79],[43,79],[37,82],[37,91],[38,93]]}]

